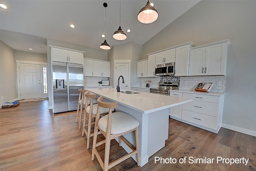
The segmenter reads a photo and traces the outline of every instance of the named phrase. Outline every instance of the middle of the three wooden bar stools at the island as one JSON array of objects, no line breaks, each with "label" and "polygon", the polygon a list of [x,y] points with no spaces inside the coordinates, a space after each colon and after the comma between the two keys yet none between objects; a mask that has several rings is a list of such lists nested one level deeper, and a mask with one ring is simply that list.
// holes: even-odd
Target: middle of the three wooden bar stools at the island
[{"label": "middle of the three wooden bar stools at the island", "polygon": [[[91,133],[92,125],[95,124],[95,122],[92,122],[92,118],[96,117],[96,112],[98,108],[98,104],[93,104],[88,106],[88,103],[92,103],[94,99],[96,99],[96,94],[90,94],[90,92],[86,92],[86,103],[85,103],[85,110],[84,110],[84,121],[83,121],[83,128],[82,128],[82,136],[84,136],[84,133],[87,137],[87,143],[86,148],[89,149],[90,144],[90,137],[94,135],[94,132]],[[112,112],[114,109],[112,109]],[[100,116],[108,114],[108,108],[102,108],[100,110]],[[86,118],[88,116],[88,124],[86,124]],[[87,130],[86,130],[87,127]],[[101,134],[98,132],[98,134]]]}]

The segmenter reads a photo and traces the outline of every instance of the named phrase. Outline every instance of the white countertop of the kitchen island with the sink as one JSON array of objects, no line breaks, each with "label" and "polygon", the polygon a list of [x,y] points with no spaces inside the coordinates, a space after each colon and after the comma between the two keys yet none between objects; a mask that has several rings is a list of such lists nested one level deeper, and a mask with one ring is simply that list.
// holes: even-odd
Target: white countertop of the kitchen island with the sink
[{"label": "white countertop of the kitchen island with the sink", "polygon": [[[173,96],[163,96],[160,94],[140,92],[138,94],[125,94],[116,92],[116,88],[85,88],[86,90],[103,96],[104,98],[132,108],[143,114],[156,112],[158,110],[170,108],[187,102],[192,102],[192,99],[179,98]],[[121,89],[122,91],[124,89]],[[134,90],[127,90],[138,92]]]}]

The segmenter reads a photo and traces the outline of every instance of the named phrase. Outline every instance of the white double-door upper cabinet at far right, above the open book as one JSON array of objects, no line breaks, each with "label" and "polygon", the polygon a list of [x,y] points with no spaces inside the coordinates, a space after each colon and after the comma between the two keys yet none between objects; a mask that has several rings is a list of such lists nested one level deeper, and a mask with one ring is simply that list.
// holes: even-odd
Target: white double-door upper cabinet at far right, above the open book
[{"label": "white double-door upper cabinet at far right, above the open book", "polygon": [[189,75],[226,75],[229,40],[190,49]]}]

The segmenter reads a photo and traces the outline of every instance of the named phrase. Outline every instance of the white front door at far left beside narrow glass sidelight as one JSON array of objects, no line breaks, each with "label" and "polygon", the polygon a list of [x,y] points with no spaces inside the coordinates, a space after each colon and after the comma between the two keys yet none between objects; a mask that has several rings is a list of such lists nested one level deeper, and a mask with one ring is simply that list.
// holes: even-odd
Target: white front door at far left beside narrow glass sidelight
[{"label": "white front door at far left beside narrow glass sidelight", "polygon": [[19,64],[20,98],[41,98],[41,65]]}]

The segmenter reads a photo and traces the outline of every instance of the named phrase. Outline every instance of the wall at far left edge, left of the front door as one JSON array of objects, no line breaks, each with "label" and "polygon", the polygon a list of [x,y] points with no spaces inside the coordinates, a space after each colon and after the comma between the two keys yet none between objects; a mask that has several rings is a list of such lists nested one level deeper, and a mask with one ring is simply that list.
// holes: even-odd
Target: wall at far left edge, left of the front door
[{"label": "wall at far left edge, left of the front door", "polygon": [[17,98],[15,71],[14,49],[0,41],[0,104]]}]

